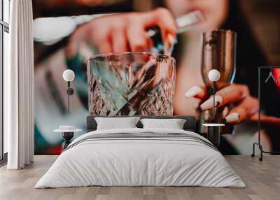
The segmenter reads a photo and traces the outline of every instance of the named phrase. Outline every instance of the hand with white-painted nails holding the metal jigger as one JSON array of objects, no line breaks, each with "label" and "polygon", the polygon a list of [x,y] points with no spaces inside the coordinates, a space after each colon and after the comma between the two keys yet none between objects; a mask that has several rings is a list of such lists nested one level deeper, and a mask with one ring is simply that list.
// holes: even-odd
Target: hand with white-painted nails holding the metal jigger
[{"label": "hand with white-painted nails holding the metal jigger", "polygon": [[[186,92],[185,96],[188,98],[194,97],[201,101],[208,98],[206,101],[201,102],[200,108],[201,110],[209,110],[213,108],[213,96],[209,97],[205,87],[195,85]],[[246,85],[232,84],[216,92],[216,108],[221,108],[232,103],[235,107],[233,107],[228,115],[225,116],[226,122],[237,124],[246,119],[253,121],[258,119],[258,99],[250,95]]]}]

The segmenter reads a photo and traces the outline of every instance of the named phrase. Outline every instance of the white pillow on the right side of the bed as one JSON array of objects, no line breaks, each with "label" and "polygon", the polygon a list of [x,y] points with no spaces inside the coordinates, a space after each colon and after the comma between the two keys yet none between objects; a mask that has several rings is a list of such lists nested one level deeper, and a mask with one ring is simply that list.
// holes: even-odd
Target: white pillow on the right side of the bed
[{"label": "white pillow on the right side of the bed", "polygon": [[141,119],[144,129],[156,128],[156,129],[183,129],[183,125],[186,120],[183,119]]}]

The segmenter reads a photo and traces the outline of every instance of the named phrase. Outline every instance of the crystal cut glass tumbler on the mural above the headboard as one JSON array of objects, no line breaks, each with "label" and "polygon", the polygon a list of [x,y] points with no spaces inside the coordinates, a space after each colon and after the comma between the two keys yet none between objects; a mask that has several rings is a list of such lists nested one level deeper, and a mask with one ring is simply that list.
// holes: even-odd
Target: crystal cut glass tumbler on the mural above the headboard
[{"label": "crystal cut glass tumbler on the mural above the headboard", "polygon": [[173,115],[175,59],[148,52],[91,57],[90,115]]}]

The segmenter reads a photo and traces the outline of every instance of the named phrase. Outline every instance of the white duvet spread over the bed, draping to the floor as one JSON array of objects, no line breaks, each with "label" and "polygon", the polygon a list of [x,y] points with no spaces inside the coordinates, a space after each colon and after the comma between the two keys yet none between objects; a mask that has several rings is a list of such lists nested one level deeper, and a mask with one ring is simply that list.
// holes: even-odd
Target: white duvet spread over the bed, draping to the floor
[{"label": "white duvet spread over the bed, draping to the floor", "polygon": [[130,137],[85,140],[96,134],[146,132],[187,134],[207,141],[191,131],[178,129],[92,131],[76,138],[35,188],[90,185],[246,187],[218,150],[192,139]]}]

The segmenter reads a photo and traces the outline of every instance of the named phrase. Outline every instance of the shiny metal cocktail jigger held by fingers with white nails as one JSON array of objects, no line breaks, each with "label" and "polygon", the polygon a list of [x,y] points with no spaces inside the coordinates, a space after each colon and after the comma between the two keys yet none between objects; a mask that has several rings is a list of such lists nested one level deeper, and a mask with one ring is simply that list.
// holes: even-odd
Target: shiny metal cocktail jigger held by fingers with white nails
[{"label": "shiny metal cocktail jigger held by fingers with white nails", "polygon": [[[212,69],[220,72],[221,77],[215,83],[216,90],[230,85],[235,78],[236,61],[236,41],[237,34],[230,30],[214,30],[202,34],[202,78],[207,87],[208,94],[213,94],[213,83],[208,78],[208,73]],[[225,110],[226,109],[226,110]],[[224,115],[228,108],[216,108],[214,110],[205,110],[200,114],[200,122],[204,123],[222,123]],[[200,126],[202,127],[202,126]],[[200,130],[206,133],[206,127]],[[231,134],[233,127],[227,126],[222,129],[222,134]]]}]

